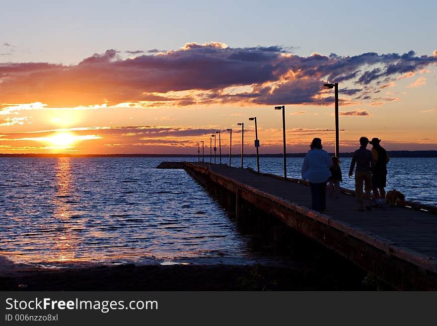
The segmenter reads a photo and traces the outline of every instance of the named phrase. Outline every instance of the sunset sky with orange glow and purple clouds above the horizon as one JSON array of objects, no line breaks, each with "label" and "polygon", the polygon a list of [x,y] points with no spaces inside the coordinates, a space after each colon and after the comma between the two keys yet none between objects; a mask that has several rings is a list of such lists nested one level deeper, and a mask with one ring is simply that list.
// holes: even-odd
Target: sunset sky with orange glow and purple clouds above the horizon
[{"label": "sunset sky with orange glow and purple clouds above the horizon", "polygon": [[325,82],[340,152],[437,150],[433,1],[64,2],[0,0],[0,153],[333,152]]}]

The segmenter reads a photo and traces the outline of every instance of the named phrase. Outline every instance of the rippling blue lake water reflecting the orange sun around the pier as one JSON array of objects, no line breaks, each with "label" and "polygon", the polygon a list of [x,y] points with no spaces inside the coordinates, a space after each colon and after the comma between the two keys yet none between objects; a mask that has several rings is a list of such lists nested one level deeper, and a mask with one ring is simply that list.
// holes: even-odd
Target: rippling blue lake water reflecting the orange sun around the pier
[{"label": "rippling blue lake water reflecting the orange sun around the pier", "polygon": [[[169,160],[183,159],[0,158],[0,253],[51,265],[262,256],[185,171],[155,169]],[[300,178],[302,160],[288,158],[289,177]],[[349,163],[342,186],[352,189]],[[260,166],[283,175],[282,158]],[[435,158],[393,158],[388,180],[408,200],[436,205],[436,168]]]}]

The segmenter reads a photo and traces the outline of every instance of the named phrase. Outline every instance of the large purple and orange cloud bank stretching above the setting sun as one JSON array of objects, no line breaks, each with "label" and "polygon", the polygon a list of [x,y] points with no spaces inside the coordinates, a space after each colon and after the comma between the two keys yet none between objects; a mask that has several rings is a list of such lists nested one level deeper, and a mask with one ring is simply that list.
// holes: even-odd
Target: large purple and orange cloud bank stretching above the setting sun
[{"label": "large purple and orange cloud bank stretching above the setting sun", "polygon": [[[130,51],[128,53],[141,54]],[[323,82],[350,82],[341,88],[340,102],[374,100],[379,83],[437,63],[437,57],[373,52],[358,56],[314,53],[301,57],[280,46],[231,48],[224,43],[186,43],[170,51],[147,51],[122,59],[107,50],[77,65],[49,63],[0,64],[0,93],[8,103],[46,103],[78,107],[106,103],[154,108],[238,104],[328,105],[334,94]],[[228,91],[234,89],[233,91]],[[237,91],[235,91],[237,90]]]}]

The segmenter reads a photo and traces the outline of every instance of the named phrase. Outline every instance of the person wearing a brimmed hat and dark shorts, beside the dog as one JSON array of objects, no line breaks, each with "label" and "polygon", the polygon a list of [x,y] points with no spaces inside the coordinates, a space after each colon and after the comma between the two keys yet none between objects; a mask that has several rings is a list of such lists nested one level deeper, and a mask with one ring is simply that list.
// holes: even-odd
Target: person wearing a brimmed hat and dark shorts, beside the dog
[{"label": "person wearing a brimmed hat and dark shorts, beside the dog", "polygon": [[373,198],[376,201],[376,206],[385,205],[385,186],[387,181],[387,163],[390,161],[387,151],[379,145],[381,139],[372,138],[370,145],[372,145],[373,159],[375,166],[372,173],[372,191]]}]

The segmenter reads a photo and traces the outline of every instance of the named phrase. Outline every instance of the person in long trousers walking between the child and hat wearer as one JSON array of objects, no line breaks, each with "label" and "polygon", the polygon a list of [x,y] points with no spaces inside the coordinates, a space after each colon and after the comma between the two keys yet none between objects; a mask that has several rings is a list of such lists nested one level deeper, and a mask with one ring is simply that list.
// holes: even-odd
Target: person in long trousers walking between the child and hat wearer
[{"label": "person in long trousers walking between the child and hat wearer", "polygon": [[355,193],[357,201],[360,204],[359,211],[364,212],[363,206],[363,182],[365,191],[365,208],[370,210],[369,200],[372,182],[372,170],[373,170],[373,155],[372,152],[366,149],[368,144],[367,137],[360,138],[360,148],[354,152],[352,156],[351,168],[349,169],[349,177],[352,177],[354,173],[355,163],[357,163],[357,169],[355,170]]}]

